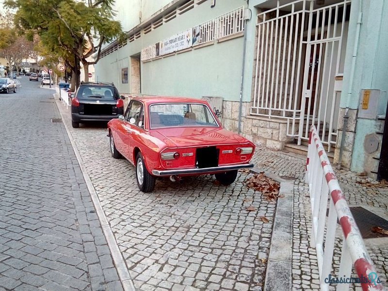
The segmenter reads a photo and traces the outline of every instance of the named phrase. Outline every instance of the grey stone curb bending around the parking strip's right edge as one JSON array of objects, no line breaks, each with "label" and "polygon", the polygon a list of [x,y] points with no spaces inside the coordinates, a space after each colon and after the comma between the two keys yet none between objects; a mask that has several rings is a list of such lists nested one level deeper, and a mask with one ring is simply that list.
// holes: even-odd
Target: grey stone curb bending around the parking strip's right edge
[{"label": "grey stone curb bending around the parking strip's right edge", "polygon": [[277,199],[263,290],[291,291],[293,182],[258,168],[253,168],[251,171],[264,172],[265,176],[280,182],[279,195],[284,195]]}]

